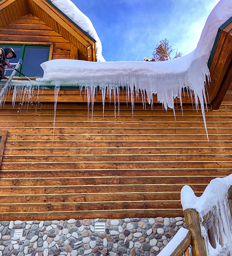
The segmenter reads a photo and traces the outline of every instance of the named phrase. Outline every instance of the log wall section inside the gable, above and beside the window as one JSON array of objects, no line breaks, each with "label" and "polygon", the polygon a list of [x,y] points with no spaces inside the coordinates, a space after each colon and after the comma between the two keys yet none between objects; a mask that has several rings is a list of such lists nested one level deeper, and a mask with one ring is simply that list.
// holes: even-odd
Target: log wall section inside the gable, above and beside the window
[{"label": "log wall section inside the gable, above and beside the window", "polygon": [[88,59],[82,43],[74,46],[31,13],[0,28],[0,43],[53,43],[51,59]]}]

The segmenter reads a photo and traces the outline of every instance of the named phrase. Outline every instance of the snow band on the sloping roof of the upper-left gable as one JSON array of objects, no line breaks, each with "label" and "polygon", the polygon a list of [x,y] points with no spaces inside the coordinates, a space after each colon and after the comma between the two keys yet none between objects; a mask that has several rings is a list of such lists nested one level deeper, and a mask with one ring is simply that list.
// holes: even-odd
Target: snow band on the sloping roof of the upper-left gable
[{"label": "snow band on the sloping roof of the upper-left gable", "polygon": [[98,61],[105,61],[102,56],[102,43],[90,19],[84,15],[71,0],[50,0],[57,8],[74,21],[82,30],[96,40],[96,55]]}]

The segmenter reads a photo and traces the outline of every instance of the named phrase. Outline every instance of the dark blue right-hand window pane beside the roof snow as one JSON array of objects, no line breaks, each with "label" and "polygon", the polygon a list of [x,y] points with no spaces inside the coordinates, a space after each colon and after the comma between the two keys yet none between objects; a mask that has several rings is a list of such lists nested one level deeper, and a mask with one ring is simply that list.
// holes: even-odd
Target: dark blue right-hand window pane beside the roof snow
[{"label": "dark blue right-hand window pane beside the roof snow", "polygon": [[27,47],[24,58],[24,73],[27,77],[42,77],[43,69],[40,64],[48,60],[49,47]]}]

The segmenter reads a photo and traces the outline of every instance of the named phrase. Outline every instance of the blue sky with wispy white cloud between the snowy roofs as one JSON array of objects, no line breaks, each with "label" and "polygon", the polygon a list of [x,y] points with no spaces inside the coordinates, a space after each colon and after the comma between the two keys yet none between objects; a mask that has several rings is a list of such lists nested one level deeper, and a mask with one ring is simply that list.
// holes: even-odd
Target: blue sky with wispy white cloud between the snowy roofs
[{"label": "blue sky with wispy white cloud between the snowy roofs", "polygon": [[89,17],[106,61],[143,60],[167,38],[184,55],[219,0],[72,0]]}]

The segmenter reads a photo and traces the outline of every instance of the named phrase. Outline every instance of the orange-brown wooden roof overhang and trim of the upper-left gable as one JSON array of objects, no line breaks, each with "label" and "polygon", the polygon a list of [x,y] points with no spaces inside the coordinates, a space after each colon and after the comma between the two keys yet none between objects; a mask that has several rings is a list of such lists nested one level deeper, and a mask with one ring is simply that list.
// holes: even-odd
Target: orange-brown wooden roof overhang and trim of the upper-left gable
[{"label": "orange-brown wooden roof overhang and trim of the upper-left gable", "polygon": [[[78,49],[84,47],[83,49],[84,52],[86,52],[86,58],[83,58],[82,56],[82,58],[79,59],[90,61],[96,60],[95,40],[81,30],[77,24],[73,23],[51,3],[49,3],[49,1],[2,0],[0,2],[0,28],[6,28],[9,24],[12,24],[12,22],[15,22],[28,14],[32,14],[33,16],[37,17],[41,22],[59,34],[63,39],[72,43],[74,47],[77,47]],[[27,25],[29,24],[27,23]],[[6,40],[9,41],[10,37],[6,38]]]}]

